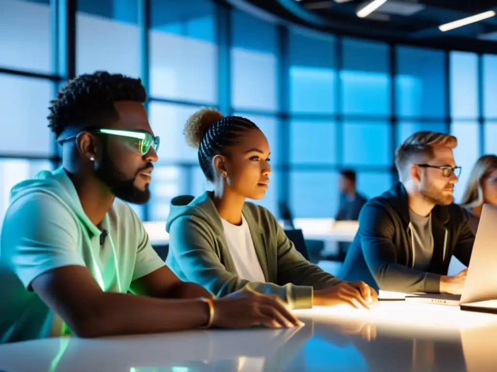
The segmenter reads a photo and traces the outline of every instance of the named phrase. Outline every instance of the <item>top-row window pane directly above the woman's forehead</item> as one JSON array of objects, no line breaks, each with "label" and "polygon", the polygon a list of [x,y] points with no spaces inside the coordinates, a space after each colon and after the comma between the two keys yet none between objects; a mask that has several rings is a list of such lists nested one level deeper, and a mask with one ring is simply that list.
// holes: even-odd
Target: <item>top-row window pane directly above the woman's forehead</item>
[{"label": "top-row window pane directly above the woman's forehead", "polygon": [[275,111],[278,67],[276,27],[242,11],[234,10],[231,14],[232,105],[237,109]]}]

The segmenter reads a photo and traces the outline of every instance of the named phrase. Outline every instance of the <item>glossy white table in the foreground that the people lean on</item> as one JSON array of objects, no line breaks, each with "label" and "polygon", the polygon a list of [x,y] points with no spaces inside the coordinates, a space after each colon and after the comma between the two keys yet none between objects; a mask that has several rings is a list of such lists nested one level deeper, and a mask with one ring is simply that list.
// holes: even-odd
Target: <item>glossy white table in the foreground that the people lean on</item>
[{"label": "glossy white table in the foreground that the people lean on", "polygon": [[497,315],[380,302],[296,310],[298,329],[202,330],[0,345],[5,372],[494,371]]}]

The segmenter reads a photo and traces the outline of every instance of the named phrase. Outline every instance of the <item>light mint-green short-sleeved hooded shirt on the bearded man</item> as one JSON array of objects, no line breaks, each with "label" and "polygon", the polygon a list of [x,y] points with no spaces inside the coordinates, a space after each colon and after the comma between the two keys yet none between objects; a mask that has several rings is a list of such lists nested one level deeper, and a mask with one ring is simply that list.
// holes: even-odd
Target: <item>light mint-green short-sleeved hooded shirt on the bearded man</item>
[{"label": "light mint-green short-sleeved hooded shirt on the bearded man", "polygon": [[10,197],[0,239],[0,343],[70,333],[30,287],[49,270],[84,266],[102,290],[126,293],[133,280],[164,266],[129,205],[115,199],[93,225],[63,169],[21,182]]}]

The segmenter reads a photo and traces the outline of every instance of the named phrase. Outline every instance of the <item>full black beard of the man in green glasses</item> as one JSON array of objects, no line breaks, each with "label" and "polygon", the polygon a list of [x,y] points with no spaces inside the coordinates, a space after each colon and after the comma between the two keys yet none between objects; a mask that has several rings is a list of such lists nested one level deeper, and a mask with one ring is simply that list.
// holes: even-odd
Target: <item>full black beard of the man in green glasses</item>
[{"label": "full black beard of the man in green glasses", "polygon": [[138,170],[135,177],[128,179],[112,162],[104,148],[101,163],[95,170],[95,176],[119,199],[134,204],[145,204],[150,199],[149,186],[147,185],[145,190],[140,190],[135,186],[135,179],[140,172],[152,167],[153,165],[148,163],[145,168]]}]

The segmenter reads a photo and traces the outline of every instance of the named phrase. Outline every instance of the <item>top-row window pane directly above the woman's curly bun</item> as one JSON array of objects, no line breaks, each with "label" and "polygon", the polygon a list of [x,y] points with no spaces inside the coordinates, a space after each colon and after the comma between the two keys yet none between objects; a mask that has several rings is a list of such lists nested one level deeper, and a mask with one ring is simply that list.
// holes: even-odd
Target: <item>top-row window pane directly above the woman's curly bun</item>
[{"label": "top-row window pane directly above the woman's curly bun", "polygon": [[218,101],[215,5],[208,0],[152,0],[150,94]]}]

